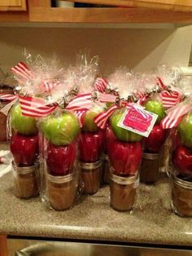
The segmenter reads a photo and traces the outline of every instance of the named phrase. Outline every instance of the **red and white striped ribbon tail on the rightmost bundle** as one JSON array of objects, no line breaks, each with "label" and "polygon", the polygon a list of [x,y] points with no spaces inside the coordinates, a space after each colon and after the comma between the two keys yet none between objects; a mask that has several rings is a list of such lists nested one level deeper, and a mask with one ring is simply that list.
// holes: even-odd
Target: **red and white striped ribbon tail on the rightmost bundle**
[{"label": "red and white striped ribbon tail on the rightmost bundle", "polygon": [[161,126],[164,129],[169,129],[175,127],[181,121],[181,117],[183,117],[186,113],[190,112],[192,109],[192,104],[186,104],[182,102],[181,104],[177,104],[176,107],[170,108],[168,110],[168,115],[164,117],[161,121]]}]

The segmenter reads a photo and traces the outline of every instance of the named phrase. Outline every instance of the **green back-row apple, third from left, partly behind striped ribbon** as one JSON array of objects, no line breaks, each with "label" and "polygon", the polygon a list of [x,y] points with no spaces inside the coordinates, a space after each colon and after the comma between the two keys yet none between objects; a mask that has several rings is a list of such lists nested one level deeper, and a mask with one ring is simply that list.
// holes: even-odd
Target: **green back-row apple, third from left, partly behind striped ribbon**
[{"label": "green back-row apple, third from left, partly behind striped ribbon", "polygon": [[100,106],[95,106],[94,108],[89,109],[85,113],[82,130],[85,130],[86,132],[97,131],[98,126],[96,126],[94,123],[94,117],[97,117],[97,115],[102,112],[103,112],[103,108]]}]

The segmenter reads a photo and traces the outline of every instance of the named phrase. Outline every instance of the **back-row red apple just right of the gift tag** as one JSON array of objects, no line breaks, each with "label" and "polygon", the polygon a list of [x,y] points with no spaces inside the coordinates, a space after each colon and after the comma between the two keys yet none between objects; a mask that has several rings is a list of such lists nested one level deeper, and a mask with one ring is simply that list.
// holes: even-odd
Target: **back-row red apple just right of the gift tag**
[{"label": "back-row red apple just right of the gift tag", "polygon": [[151,130],[151,134],[145,139],[145,149],[151,152],[159,152],[166,139],[166,130],[160,125],[156,125]]}]

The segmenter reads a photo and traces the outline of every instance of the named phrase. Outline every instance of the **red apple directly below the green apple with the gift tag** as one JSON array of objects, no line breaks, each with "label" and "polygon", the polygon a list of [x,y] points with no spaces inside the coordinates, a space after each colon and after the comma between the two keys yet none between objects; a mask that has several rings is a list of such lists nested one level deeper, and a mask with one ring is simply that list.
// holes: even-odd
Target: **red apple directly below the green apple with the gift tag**
[{"label": "red apple directly below the green apple with the gift tag", "polygon": [[112,139],[108,155],[116,174],[136,174],[142,161],[142,143]]}]

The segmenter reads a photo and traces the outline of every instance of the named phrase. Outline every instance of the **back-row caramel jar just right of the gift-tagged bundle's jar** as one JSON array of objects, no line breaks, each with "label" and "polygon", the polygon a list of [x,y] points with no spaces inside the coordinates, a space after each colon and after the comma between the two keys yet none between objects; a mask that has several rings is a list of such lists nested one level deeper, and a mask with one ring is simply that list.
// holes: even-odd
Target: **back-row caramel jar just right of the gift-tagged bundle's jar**
[{"label": "back-row caramel jar just right of the gift-tagged bundle's jar", "polygon": [[156,183],[159,180],[159,153],[142,154],[140,179],[143,183]]}]

